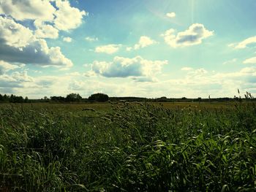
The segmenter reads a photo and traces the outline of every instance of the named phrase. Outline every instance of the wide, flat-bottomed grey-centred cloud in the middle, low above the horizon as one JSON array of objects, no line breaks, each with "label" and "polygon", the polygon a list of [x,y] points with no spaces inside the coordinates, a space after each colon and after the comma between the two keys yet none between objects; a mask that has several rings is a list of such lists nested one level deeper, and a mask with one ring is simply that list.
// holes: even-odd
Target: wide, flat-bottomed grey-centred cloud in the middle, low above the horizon
[{"label": "wide, flat-bottomed grey-centred cloud in the middle, low above the horizon", "polygon": [[[149,61],[140,56],[135,58],[115,57],[111,62],[94,61],[91,70],[104,77],[148,77],[161,72],[167,61]],[[144,78],[144,80],[146,80]]]}]

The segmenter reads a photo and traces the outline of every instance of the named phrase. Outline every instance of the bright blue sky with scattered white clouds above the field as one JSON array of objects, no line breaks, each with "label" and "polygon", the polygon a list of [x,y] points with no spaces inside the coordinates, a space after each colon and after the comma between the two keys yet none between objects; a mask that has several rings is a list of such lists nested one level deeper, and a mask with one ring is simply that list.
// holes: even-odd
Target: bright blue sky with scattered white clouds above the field
[{"label": "bright blue sky with scattered white clouds above the field", "polygon": [[255,0],[0,0],[0,93],[256,93]]}]

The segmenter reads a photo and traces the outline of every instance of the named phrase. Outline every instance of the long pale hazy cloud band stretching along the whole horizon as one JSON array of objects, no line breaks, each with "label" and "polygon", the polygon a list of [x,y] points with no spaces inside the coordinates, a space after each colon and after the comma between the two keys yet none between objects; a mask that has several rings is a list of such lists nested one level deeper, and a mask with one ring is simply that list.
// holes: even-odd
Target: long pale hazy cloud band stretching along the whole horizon
[{"label": "long pale hazy cloud band stretching along the whole horizon", "polygon": [[250,91],[256,94],[256,67],[246,67],[231,73],[207,72],[206,69],[192,69],[192,71],[194,73],[189,71],[178,78],[170,76],[168,80],[157,80],[153,75],[118,79],[97,75],[88,78],[75,72],[64,76],[30,77],[28,71],[27,74],[20,72],[20,74],[0,75],[0,91],[35,99],[43,96],[66,96],[72,92],[80,93],[83,97],[99,92],[107,93],[109,96],[147,98],[160,96],[208,98],[208,95],[211,95],[211,98],[233,97],[237,95],[237,88],[241,93]]}]

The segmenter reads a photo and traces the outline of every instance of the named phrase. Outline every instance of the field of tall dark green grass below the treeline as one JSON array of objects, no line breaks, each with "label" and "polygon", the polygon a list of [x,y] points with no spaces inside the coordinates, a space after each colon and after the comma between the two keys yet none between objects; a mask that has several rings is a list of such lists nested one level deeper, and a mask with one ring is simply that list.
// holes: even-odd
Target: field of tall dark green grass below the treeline
[{"label": "field of tall dark green grass below the treeline", "polygon": [[256,191],[256,104],[1,104],[0,191]]}]

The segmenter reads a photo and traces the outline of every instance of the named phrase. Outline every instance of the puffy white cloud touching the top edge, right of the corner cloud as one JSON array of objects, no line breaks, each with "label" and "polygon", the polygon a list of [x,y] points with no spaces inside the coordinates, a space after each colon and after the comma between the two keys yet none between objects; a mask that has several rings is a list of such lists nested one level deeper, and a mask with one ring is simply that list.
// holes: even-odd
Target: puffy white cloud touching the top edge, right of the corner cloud
[{"label": "puffy white cloud touching the top edge, right of the corner cloud", "polygon": [[69,1],[56,0],[54,26],[59,30],[69,31],[70,29],[78,28],[82,23],[85,11],[80,11],[78,8],[70,7]]}]

